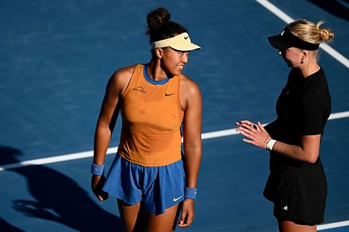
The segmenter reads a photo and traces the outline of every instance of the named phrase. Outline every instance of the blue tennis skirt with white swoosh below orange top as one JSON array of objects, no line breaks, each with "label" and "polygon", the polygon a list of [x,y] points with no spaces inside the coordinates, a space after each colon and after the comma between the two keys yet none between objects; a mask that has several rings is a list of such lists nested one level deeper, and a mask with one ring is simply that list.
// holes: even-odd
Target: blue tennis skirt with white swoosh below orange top
[{"label": "blue tennis skirt with white swoosh below orange top", "polygon": [[184,200],[185,174],[182,160],[161,167],[144,167],[116,155],[107,173],[103,191],[156,215]]}]

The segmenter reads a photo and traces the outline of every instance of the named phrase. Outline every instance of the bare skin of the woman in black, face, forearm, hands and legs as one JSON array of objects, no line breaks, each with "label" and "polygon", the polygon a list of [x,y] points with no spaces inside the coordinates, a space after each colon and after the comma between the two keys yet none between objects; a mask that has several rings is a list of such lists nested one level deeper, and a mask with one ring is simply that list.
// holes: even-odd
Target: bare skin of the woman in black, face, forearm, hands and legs
[{"label": "bare skin of the woman in black, face, forearm, hands and legs", "polygon": [[[296,68],[304,77],[309,77],[320,69],[315,56],[307,50],[290,47],[288,49],[279,50],[279,55],[290,68]],[[242,120],[235,123],[237,131],[244,136],[243,141],[248,144],[253,144],[259,148],[266,148],[267,141],[272,139],[263,125],[253,123],[248,120]],[[291,157],[295,160],[314,163],[319,156],[321,134],[301,135],[301,146],[285,144],[281,141],[276,141],[273,151],[280,155]],[[313,232],[316,231],[316,225],[305,226],[295,224],[290,221],[279,221],[280,232]]]}]

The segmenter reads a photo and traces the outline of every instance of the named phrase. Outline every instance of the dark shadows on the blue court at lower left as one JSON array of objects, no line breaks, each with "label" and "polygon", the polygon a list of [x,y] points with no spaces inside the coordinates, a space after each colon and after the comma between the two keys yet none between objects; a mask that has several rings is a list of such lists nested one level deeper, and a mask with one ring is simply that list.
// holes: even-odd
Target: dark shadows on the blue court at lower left
[{"label": "dark shadows on the blue court at lower left", "polygon": [[[21,154],[15,148],[0,146],[0,164],[16,163],[16,156]],[[62,173],[40,165],[10,171],[27,179],[29,193],[36,199],[13,201],[13,208],[27,217],[50,220],[82,232],[122,231],[119,217],[99,207],[85,190]],[[0,228],[5,226],[9,231],[21,231],[0,219]]]}]

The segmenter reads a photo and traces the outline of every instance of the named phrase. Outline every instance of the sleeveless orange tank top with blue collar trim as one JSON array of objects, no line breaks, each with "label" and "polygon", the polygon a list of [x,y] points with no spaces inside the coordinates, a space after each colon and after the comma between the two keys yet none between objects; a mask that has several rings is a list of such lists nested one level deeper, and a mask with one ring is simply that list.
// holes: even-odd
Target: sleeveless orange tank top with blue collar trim
[{"label": "sleeveless orange tank top with blue collar trim", "polygon": [[180,76],[154,81],[139,64],[122,96],[122,128],[118,153],[146,167],[181,159]]}]

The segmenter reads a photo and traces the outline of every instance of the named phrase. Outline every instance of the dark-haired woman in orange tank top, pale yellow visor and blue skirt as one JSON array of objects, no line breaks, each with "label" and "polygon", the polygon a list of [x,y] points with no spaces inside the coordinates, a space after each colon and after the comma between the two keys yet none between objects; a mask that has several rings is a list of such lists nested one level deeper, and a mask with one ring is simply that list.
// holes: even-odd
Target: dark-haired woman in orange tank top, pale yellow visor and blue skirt
[{"label": "dark-haired woman in orange tank top, pale yellow visor and blue skirt", "polygon": [[[117,198],[127,232],[191,225],[202,155],[200,89],[182,73],[189,51],[200,47],[165,8],[151,11],[147,23],[151,61],[110,77],[91,165],[94,194],[100,201],[109,194]],[[105,178],[105,154],[119,113],[118,153]]]}]

